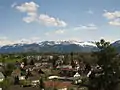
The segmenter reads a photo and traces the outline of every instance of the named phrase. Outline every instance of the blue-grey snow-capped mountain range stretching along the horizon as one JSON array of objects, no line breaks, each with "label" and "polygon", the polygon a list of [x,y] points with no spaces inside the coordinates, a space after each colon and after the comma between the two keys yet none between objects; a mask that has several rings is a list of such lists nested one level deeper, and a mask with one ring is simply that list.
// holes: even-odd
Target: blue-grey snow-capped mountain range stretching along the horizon
[{"label": "blue-grey snow-capped mountain range stretching along the horizon", "polygon": [[[112,43],[113,46],[120,48],[120,41]],[[16,44],[0,47],[0,53],[16,52],[91,52],[98,50],[95,42],[79,41],[42,41],[35,43],[19,42]]]}]

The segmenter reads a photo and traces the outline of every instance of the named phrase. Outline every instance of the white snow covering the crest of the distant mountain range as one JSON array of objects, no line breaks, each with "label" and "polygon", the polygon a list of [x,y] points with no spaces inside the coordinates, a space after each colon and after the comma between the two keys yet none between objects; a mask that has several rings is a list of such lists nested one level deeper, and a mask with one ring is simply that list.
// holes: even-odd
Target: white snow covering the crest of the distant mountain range
[{"label": "white snow covering the crest of the distant mountain range", "polygon": [[[40,46],[45,46],[45,45],[53,46],[53,45],[60,45],[60,44],[61,45],[75,44],[75,45],[79,45],[79,46],[82,46],[82,47],[85,47],[85,46],[96,47],[96,44],[94,42],[91,42],[91,41],[80,42],[80,41],[75,41],[75,40],[69,40],[69,41],[63,40],[63,41],[42,41],[42,42],[34,42],[34,43],[38,44]],[[25,41],[25,40],[22,40],[22,41],[19,41],[17,43],[11,44],[10,46],[16,47],[16,46],[23,46],[25,44],[33,44],[33,43]]]}]

